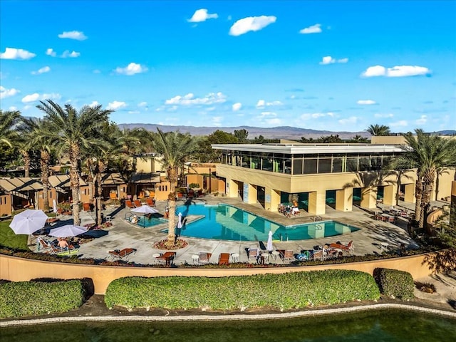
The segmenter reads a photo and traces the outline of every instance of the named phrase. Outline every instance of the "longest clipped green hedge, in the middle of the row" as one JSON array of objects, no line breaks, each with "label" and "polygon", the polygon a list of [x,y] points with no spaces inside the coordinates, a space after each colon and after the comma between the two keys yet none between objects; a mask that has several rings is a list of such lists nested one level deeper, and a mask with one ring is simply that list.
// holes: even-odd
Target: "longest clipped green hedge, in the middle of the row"
[{"label": "longest clipped green hedge, in the middle of the row", "polygon": [[126,277],[109,284],[105,304],[110,309],[288,310],[379,297],[370,274],[324,270],[223,278]]}]

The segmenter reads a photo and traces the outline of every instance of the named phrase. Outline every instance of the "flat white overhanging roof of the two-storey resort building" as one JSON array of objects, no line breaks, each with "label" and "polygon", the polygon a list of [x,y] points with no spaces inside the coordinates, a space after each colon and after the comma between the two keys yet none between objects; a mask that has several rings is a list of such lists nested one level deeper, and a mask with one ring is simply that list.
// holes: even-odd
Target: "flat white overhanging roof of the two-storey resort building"
[{"label": "flat white overhanging roof of the two-storey resort building", "polygon": [[404,152],[400,145],[371,144],[212,144],[211,147],[214,150],[284,153],[285,155]]}]

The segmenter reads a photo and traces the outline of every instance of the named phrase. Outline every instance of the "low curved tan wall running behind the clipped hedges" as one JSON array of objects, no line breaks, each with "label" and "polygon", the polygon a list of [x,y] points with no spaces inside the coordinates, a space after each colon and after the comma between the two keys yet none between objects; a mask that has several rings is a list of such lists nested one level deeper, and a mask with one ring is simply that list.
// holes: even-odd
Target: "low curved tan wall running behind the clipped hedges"
[{"label": "low curved tan wall running behind the clipped hedges", "polygon": [[250,276],[253,274],[284,274],[297,271],[322,269],[351,269],[373,274],[376,268],[408,271],[413,279],[432,274],[433,266],[426,262],[430,254],[410,257],[361,261],[346,264],[325,264],[318,266],[289,266],[264,268],[154,268],[138,266],[95,266],[85,264],[66,264],[61,262],[39,261],[11,257],[0,254],[0,279],[9,281],[29,281],[39,278],[84,279],[93,281],[94,293],[105,294],[111,281],[125,276]]}]

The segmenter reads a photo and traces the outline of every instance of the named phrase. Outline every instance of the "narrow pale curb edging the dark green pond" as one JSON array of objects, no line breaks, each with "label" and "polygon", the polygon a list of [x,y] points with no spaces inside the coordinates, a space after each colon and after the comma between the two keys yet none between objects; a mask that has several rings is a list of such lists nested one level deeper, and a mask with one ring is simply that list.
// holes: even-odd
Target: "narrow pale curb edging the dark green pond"
[{"label": "narrow pale curb edging the dark green pond", "polygon": [[446,311],[442,309],[432,309],[423,306],[413,306],[409,304],[369,304],[365,306],[351,306],[337,309],[317,309],[296,312],[286,312],[282,314],[234,314],[234,315],[190,315],[190,316],[68,316],[68,317],[49,317],[33,318],[14,321],[0,321],[0,327],[9,326],[28,326],[33,324],[50,324],[50,323],[78,323],[78,322],[179,322],[179,321],[239,321],[239,320],[270,320],[284,318],[299,318],[306,316],[323,316],[331,314],[347,314],[356,311],[368,311],[376,309],[401,309],[408,311],[418,311],[425,314],[434,314],[456,319],[456,311]]}]

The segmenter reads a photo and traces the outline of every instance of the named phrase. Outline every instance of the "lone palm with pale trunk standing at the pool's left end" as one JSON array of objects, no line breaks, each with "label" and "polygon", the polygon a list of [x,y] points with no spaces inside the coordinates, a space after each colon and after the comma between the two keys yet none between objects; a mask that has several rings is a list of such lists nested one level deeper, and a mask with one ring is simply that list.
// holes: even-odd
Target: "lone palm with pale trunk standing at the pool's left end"
[{"label": "lone palm with pale trunk standing at the pool's left end", "polygon": [[169,219],[167,247],[175,246],[175,212],[178,167],[187,161],[187,157],[195,150],[196,140],[189,133],[179,132],[163,133],[157,128],[157,135],[153,140],[155,150],[162,155],[160,162],[166,170],[167,180],[170,182],[168,195]]}]

